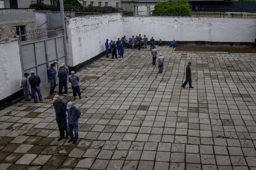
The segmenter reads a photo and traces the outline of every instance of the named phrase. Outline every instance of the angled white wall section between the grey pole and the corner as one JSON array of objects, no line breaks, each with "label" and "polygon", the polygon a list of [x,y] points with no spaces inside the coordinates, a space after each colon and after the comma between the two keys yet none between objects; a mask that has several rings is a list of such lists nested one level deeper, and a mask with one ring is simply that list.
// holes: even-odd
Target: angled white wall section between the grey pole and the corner
[{"label": "angled white wall section between the grey pole and the corner", "polygon": [[69,65],[78,65],[104,52],[106,39],[120,38],[123,33],[121,14],[70,18],[67,21]]}]

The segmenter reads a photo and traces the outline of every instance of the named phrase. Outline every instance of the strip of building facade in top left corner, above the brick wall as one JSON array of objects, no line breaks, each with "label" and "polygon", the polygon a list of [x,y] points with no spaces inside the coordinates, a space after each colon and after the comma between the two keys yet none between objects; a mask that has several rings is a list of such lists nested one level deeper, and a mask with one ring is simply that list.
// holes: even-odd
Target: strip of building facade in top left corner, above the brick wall
[{"label": "strip of building facade in top left corner, above the brick wall", "polygon": [[42,3],[53,4],[54,0],[0,0],[2,8],[29,8],[30,4]]}]

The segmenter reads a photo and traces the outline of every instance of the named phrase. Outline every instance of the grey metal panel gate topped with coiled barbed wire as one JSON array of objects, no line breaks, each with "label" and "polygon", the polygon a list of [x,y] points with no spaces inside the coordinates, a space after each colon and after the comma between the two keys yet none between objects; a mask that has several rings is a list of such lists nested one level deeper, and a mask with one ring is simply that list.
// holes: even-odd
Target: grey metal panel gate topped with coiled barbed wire
[{"label": "grey metal panel gate topped with coiled barbed wire", "polygon": [[[49,37],[49,31],[47,34],[42,34],[43,36],[32,36],[28,38],[30,38],[29,40],[35,40],[38,39],[38,37]],[[54,34],[54,36],[54,38],[46,38],[40,41],[22,41],[20,45],[23,73],[35,71],[36,75],[41,78],[42,86],[48,83],[47,68],[49,68],[51,63],[57,60],[59,64],[66,64],[64,36],[56,36],[56,34]]]}]

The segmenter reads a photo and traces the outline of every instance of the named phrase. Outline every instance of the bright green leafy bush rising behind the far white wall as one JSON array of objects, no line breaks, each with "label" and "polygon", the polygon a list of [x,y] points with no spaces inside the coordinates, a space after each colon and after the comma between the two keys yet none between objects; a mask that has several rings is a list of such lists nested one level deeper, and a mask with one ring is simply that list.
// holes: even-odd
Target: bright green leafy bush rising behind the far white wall
[{"label": "bright green leafy bush rising behind the far white wall", "polygon": [[181,2],[158,2],[152,11],[154,16],[190,16],[190,4]]}]

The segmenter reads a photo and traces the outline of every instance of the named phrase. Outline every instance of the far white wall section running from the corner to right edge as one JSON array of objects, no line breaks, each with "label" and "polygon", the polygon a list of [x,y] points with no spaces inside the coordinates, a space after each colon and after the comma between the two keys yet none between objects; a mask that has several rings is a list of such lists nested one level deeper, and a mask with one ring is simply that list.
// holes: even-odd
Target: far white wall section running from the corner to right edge
[{"label": "far white wall section running from the corner to right edge", "polygon": [[255,18],[124,17],[124,34],[162,41],[254,42]]}]

